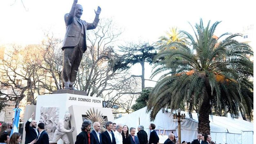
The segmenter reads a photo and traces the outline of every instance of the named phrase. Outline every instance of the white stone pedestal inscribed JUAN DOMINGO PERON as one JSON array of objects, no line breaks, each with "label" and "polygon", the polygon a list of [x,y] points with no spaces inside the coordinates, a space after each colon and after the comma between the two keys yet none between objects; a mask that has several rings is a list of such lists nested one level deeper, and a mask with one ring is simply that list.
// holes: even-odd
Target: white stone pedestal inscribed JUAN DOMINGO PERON
[{"label": "white stone pedestal inscribed JUAN DOMINGO PERON", "polygon": [[[54,94],[40,95],[37,97],[35,120],[37,123],[40,121],[48,123],[48,126],[45,126],[45,130],[48,132],[50,142],[52,142],[51,139],[54,135],[56,122],[58,119],[64,118],[65,113],[69,112],[69,107],[71,105],[102,108],[102,98],[84,96],[85,94],[85,92],[78,90],[57,90]],[[85,114],[85,110],[80,111]],[[79,119],[79,116],[76,117],[73,112],[69,113],[71,114],[70,119]],[[80,127],[82,126],[82,122],[83,121],[81,120]],[[74,125],[71,124],[71,126],[73,127]],[[76,129],[78,128],[77,126],[74,127]],[[76,131],[79,130],[80,128]],[[72,133],[70,132],[67,134],[69,136],[70,144],[73,144],[74,140],[72,138]],[[63,144],[63,141],[60,139],[57,144]]]}]

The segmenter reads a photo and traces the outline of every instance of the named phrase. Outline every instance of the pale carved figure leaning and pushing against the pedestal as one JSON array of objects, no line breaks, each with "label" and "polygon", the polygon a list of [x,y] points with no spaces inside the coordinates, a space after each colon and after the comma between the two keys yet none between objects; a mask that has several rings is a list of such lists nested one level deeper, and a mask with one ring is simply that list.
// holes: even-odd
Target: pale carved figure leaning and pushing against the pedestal
[{"label": "pale carved figure leaning and pushing against the pedestal", "polygon": [[57,142],[59,139],[62,139],[64,143],[70,144],[67,133],[73,132],[75,128],[72,127],[71,129],[69,129],[71,127],[69,122],[70,114],[67,112],[64,119],[60,119],[58,122],[57,129],[54,133],[53,142]]}]

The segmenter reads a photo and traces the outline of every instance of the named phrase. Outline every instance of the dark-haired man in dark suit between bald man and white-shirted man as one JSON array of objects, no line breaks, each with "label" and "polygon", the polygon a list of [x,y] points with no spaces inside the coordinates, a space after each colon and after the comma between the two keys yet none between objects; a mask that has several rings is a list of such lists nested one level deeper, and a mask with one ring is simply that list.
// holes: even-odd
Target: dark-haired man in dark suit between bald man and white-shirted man
[{"label": "dark-haired man in dark suit between bald man and white-shirted man", "polygon": [[113,123],[111,121],[107,121],[106,131],[102,133],[102,144],[116,144],[115,136],[112,129]]}]

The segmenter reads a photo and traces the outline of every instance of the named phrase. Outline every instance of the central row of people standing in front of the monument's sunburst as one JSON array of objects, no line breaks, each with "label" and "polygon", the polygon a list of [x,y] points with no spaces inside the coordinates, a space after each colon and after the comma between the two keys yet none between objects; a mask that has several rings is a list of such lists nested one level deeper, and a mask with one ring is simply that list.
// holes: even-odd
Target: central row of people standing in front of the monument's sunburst
[{"label": "central row of people standing in front of the monument's sunburst", "polygon": [[[93,130],[91,131],[91,125]],[[155,125],[150,124],[151,130],[150,138],[144,131],[144,127],[139,125],[137,136],[135,135],[136,128],[126,125],[112,123],[107,121],[105,123],[106,131],[100,133],[101,126],[99,122],[91,123],[90,120],[84,120],[81,130],[82,132],[77,135],[75,144],[157,144],[159,137],[156,133]]]}]

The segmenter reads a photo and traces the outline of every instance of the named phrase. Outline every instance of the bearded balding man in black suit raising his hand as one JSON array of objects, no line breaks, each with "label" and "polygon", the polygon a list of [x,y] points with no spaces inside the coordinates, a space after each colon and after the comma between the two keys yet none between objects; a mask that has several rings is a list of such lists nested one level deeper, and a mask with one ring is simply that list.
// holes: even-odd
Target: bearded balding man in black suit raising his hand
[{"label": "bearded balding man in black suit raising his hand", "polygon": [[37,126],[36,121],[32,120],[34,116],[35,114],[33,112],[31,114],[31,118],[28,119],[28,121],[25,124],[25,131],[26,131],[25,144],[30,143],[31,141],[37,139],[39,136],[39,131],[36,128]]}]

